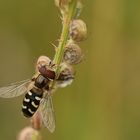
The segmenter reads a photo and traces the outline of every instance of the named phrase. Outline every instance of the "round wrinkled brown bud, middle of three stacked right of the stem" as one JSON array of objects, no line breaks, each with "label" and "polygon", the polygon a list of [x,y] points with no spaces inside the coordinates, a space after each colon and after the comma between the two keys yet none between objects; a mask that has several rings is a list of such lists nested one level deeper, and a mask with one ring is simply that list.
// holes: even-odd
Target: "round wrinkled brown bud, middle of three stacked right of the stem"
[{"label": "round wrinkled brown bud, middle of three stacked right of the stem", "polygon": [[82,58],[83,54],[81,48],[73,42],[68,42],[64,50],[63,61],[74,65],[80,63]]}]

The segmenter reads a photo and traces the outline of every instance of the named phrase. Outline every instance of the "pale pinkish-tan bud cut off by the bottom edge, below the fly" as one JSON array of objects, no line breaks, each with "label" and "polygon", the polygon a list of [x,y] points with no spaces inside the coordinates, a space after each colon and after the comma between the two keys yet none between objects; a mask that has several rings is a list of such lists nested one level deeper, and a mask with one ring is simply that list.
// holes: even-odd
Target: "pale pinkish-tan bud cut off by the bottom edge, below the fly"
[{"label": "pale pinkish-tan bud cut off by the bottom edge, below the fly", "polygon": [[32,127],[25,127],[19,133],[17,140],[32,140],[33,138],[36,138],[36,140],[41,140],[39,132]]}]

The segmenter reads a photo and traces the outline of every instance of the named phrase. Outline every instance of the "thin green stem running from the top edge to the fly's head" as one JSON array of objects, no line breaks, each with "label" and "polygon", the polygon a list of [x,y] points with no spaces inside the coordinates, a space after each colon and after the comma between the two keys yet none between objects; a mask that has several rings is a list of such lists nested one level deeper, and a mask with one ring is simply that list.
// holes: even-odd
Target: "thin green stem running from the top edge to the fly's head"
[{"label": "thin green stem running from the top edge to the fly's head", "polygon": [[60,42],[56,50],[56,54],[54,56],[54,63],[56,64],[57,76],[59,75],[59,68],[60,68],[59,66],[63,59],[64,48],[66,46],[68,36],[69,36],[69,26],[75,13],[76,5],[77,5],[77,0],[72,0],[69,4],[68,13],[65,14],[65,16],[63,16],[63,27],[62,27],[62,33],[60,36]]}]

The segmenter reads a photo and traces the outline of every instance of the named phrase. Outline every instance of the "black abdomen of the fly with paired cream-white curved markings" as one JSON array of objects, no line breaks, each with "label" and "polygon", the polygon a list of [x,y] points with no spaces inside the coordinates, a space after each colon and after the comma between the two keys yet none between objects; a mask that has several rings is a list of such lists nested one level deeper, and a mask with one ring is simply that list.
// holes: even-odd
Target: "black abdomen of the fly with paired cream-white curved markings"
[{"label": "black abdomen of the fly with paired cream-white curved markings", "polygon": [[31,89],[24,97],[22,112],[25,117],[32,117],[37,111],[40,100],[43,97],[42,90],[37,90],[35,88]]}]

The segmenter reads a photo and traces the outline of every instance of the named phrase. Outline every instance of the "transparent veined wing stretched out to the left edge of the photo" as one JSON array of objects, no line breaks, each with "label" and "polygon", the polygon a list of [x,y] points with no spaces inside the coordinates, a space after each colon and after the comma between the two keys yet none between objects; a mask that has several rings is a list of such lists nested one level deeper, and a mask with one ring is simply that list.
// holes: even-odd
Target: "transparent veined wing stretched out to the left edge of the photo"
[{"label": "transparent veined wing stretched out to the left edge of the photo", "polygon": [[27,92],[27,85],[30,83],[30,79],[12,83],[6,87],[0,87],[0,97],[13,98],[20,96]]}]

